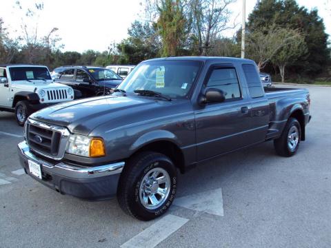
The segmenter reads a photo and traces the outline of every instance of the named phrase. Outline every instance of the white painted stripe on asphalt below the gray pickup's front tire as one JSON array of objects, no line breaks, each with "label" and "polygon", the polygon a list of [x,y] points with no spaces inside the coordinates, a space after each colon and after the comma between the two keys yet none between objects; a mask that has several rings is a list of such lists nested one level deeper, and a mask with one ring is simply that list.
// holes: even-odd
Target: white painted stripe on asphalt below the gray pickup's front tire
[{"label": "white painted stripe on asphalt below the gray pickup's front tire", "polygon": [[161,218],[147,229],[143,230],[137,236],[134,236],[123,245],[122,248],[153,248],[156,247],[161,241],[168,238],[170,234],[177,231],[185,223],[188,222],[187,218],[181,218],[168,214]]}]

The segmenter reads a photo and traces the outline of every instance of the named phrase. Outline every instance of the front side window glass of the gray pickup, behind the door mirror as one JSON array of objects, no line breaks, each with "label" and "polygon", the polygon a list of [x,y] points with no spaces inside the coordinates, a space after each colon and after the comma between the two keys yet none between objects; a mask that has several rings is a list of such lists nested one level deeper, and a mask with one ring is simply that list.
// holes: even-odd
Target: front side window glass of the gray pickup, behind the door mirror
[{"label": "front side window glass of the gray pickup, behind the door mirror", "polygon": [[241,99],[239,81],[234,68],[214,69],[206,85],[206,89],[210,88],[222,90],[225,101]]}]

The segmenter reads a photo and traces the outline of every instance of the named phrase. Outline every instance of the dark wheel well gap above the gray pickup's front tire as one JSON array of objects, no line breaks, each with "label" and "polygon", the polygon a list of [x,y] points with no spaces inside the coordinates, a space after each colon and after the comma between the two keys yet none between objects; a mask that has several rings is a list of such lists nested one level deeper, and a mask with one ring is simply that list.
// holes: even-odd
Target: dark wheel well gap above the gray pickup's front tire
[{"label": "dark wheel well gap above the gray pickup's front tire", "polygon": [[[134,152],[134,154],[147,151],[159,152],[165,156],[168,156],[181,173],[185,172],[185,159],[183,152],[181,152],[181,149],[171,141],[155,141],[149,143],[139,148],[137,152]],[[132,154],[132,156],[134,156],[134,154]]]}]

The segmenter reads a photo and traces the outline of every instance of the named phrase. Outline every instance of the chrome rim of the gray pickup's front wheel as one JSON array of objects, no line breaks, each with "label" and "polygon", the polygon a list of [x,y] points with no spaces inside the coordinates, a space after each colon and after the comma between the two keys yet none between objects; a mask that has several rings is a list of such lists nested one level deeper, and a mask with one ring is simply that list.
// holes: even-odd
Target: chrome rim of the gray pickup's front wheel
[{"label": "chrome rim of the gray pickup's front wheel", "polygon": [[165,169],[151,169],[141,180],[139,198],[143,207],[157,209],[170,193],[170,176]]}]

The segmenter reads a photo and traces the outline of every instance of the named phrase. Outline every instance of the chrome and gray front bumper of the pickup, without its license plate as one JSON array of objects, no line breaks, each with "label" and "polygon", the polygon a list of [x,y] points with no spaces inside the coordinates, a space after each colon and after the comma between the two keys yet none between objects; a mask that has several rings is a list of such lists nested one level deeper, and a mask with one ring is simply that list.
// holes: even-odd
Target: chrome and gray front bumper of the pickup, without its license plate
[{"label": "chrome and gray front bumper of the pickup, without its license plate", "polygon": [[[19,160],[26,174],[43,185],[61,194],[68,194],[86,200],[106,200],[117,192],[119,176],[124,162],[97,167],[70,165],[62,162],[50,163],[30,151],[26,141],[19,143]],[[30,174],[28,161],[41,165],[42,179]]]}]

